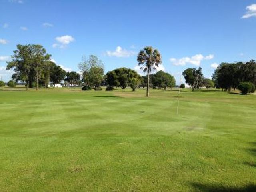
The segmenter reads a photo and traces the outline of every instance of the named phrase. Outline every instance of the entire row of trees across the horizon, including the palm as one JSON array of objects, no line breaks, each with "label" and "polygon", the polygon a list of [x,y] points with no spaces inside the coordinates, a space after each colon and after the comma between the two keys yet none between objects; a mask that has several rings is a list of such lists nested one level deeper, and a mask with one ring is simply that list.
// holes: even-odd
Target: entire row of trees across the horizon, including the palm
[{"label": "entire row of trees across the horizon, including the palm", "polygon": [[[130,86],[134,91],[139,87],[146,87],[146,96],[149,96],[149,88],[172,88],[175,86],[175,78],[163,71],[156,71],[162,64],[162,57],[158,50],[152,46],[146,46],[137,56],[140,70],[146,73],[146,76],[140,76],[135,70],[129,68],[117,68],[107,72],[104,75],[103,62],[94,55],[88,58],[84,57],[78,64],[80,72],[66,72],[61,66],[56,65],[51,60],[51,55],[41,45],[26,44],[17,45],[12,60],[7,62],[6,69],[13,69],[12,79],[15,82],[24,82],[28,90],[29,87],[39,85],[45,88],[50,82],[54,85],[64,81],[66,85],[83,85],[83,90],[101,90],[101,86],[107,86],[107,90],[113,90],[114,87],[125,89]],[[222,90],[231,90],[232,88],[243,90],[245,92],[254,91],[256,84],[256,62],[222,63],[214,71],[212,79],[204,78],[202,68],[187,68],[182,73],[186,83],[194,89],[201,87],[221,88]],[[184,87],[184,84],[182,84]]]}]

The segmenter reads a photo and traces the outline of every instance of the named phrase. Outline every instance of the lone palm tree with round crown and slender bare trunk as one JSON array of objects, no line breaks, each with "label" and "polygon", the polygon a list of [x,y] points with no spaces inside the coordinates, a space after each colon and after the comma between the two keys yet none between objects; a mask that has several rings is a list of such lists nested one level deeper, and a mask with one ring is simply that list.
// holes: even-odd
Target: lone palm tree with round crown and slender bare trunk
[{"label": "lone palm tree with round crown and slender bare trunk", "polygon": [[147,72],[148,82],[147,82],[147,97],[149,96],[149,74],[152,70],[156,70],[159,64],[162,63],[161,55],[158,50],[154,49],[152,46],[146,46],[140,50],[137,61],[138,65],[141,66],[140,70]]}]

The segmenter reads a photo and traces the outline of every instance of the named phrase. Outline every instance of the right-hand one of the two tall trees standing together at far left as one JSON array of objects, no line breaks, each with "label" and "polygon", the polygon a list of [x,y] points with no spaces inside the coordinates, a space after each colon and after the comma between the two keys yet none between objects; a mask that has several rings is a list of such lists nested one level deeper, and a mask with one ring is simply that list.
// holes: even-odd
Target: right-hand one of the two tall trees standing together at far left
[{"label": "right-hand one of the two tall trees standing together at far left", "polygon": [[45,62],[50,61],[50,54],[46,53],[46,49],[42,45],[32,45],[32,62],[36,72],[36,90],[39,89],[39,79]]}]

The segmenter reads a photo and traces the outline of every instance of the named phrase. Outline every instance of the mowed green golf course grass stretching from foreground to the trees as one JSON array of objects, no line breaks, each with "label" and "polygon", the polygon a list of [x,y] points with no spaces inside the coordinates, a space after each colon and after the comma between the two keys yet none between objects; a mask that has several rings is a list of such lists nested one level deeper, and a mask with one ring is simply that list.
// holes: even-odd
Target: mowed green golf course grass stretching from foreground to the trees
[{"label": "mowed green golf course grass stretching from foreground to the trees", "polygon": [[0,191],[256,191],[256,95],[0,91]]}]

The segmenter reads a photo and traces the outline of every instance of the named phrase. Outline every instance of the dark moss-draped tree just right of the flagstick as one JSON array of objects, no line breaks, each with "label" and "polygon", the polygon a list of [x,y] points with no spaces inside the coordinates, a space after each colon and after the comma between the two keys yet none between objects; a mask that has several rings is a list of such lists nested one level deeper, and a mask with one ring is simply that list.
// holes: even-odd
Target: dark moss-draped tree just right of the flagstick
[{"label": "dark moss-draped tree just right of the flagstick", "polygon": [[199,67],[198,69],[196,68],[188,68],[184,70],[182,73],[184,76],[186,83],[192,86],[192,91],[196,88],[199,89],[200,87],[203,86],[203,74],[202,74],[202,68]]}]

